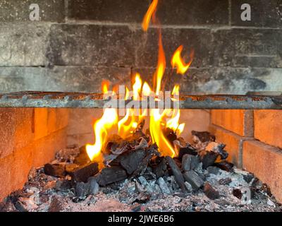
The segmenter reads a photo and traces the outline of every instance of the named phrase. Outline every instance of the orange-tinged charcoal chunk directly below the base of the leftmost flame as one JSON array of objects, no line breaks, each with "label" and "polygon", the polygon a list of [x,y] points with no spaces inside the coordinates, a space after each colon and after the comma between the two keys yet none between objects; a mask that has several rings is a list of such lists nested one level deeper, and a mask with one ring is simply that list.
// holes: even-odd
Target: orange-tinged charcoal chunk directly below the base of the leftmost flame
[{"label": "orange-tinged charcoal chunk directly below the base of the leftmost flame", "polygon": [[73,172],[70,172],[70,175],[75,182],[87,182],[87,179],[97,174],[97,172],[99,172],[98,163],[90,162],[75,168]]}]

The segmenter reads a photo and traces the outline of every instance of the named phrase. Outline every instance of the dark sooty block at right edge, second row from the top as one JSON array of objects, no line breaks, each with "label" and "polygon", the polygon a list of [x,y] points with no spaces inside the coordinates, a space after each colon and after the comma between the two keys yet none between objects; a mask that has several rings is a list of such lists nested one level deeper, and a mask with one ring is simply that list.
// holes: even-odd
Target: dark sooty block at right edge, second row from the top
[{"label": "dark sooty block at right edge, second row from the top", "polygon": [[214,37],[214,66],[282,66],[282,31],[277,29],[217,30]]}]

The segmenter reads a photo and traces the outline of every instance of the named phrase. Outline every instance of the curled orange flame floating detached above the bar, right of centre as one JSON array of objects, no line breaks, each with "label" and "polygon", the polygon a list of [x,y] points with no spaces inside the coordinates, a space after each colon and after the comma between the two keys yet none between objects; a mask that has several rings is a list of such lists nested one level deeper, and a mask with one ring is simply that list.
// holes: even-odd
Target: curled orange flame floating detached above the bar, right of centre
[{"label": "curled orange flame floating detached above the bar, right of centre", "polygon": [[171,58],[171,66],[177,69],[177,73],[180,74],[185,74],[185,72],[189,69],[190,65],[192,64],[192,59],[194,57],[194,52],[192,51],[190,54],[190,61],[188,62],[188,64],[185,64],[185,62],[183,61],[182,57],[181,57],[181,52],[183,50],[183,46],[180,45],[180,47],[178,47],[178,49],[176,49],[176,52],[174,52],[173,57]]}]

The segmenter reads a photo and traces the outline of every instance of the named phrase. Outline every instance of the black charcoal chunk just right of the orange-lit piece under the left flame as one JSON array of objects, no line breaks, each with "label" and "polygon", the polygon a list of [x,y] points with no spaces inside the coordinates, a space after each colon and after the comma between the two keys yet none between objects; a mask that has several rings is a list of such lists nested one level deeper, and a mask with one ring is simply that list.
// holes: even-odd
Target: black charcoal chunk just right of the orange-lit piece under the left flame
[{"label": "black charcoal chunk just right of the orange-lit piece under the left flame", "polygon": [[121,167],[109,167],[101,170],[97,176],[97,182],[100,186],[106,186],[114,182],[120,182],[128,176]]}]

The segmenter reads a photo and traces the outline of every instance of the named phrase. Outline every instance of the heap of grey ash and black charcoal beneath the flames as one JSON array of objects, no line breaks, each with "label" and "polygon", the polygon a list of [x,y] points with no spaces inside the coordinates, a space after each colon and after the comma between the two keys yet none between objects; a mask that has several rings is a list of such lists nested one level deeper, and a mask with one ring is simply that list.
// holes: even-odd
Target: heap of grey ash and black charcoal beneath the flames
[{"label": "heap of grey ash and black charcoal beneath the flames", "polygon": [[85,147],[70,146],[32,169],[25,187],[0,203],[1,211],[281,211],[266,184],[226,159],[209,132],[192,143],[167,129],[177,157],[161,156],[149,134],[110,136],[104,167]]}]

